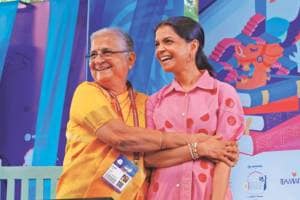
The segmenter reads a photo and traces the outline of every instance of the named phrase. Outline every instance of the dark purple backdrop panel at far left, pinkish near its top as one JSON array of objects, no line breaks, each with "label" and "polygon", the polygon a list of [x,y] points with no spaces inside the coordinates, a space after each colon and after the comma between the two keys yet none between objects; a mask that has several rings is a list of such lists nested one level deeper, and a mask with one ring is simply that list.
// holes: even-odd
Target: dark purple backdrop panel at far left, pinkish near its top
[{"label": "dark purple backdrop panel at far left, pinkish near its top", "polygon": [[3,165],[23,165],[33,147],[49,16],[48,2],[16,15],[0,83],[0,155]]}]

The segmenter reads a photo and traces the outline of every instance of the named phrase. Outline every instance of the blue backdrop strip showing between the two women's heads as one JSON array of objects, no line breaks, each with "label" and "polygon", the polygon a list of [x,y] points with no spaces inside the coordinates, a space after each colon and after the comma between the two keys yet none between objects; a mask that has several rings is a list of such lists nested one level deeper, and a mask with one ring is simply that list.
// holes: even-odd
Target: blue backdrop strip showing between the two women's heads
[{"label": "blue backdrop strip showing between the two women's heads", "polygon": [[183,15],[183,9],[183,1],[137,2],[130,28],[130,35],[135,41],[137,61],[129,74],[129,79],[137,90],[151,94],[172,80],[173,76],[165,73],[155,59],[154,28],[168,16]]}]

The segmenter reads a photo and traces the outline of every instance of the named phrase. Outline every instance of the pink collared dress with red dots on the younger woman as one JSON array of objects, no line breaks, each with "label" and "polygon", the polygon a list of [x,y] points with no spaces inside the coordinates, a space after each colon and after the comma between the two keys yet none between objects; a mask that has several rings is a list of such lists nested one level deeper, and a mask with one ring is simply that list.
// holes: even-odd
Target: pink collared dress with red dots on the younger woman
[{"label": "pink collared dress with red dots on the younger woman", "polygon": [[[243,110],[235,89],[207,71],[184,92],[175,80],[147,102],[147,126],[165,131],[222,134],[237,140],[244,131]],[[206,160],[155,169],[149,200],[209,200],[214,164]],[[227,189],[226,199],[232,199]]]}]

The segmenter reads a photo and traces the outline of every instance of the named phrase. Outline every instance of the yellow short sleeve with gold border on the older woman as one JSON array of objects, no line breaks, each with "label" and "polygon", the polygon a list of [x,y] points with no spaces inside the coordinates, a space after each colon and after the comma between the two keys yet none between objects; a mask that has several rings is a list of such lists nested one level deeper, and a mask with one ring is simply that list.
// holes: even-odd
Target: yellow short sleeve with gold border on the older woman
[{"label": "yellow short sleeve with gold border on the older woman", "polygon": [[70,120],[95,132],[113,118],[117,118],[116,114],[95,83],[84,82],[76,88],[70,109]]}]

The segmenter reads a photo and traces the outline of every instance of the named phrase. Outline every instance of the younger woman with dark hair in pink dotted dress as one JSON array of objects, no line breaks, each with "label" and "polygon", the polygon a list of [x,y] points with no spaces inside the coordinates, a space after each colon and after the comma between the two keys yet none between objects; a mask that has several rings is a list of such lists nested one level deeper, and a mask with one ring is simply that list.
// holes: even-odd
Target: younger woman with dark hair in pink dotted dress
[{"label": "younger woman with dark hair in pink dotted dress", "polygon": [[[147,125],[237,140],[244,131],[242,106],[235,89],[213,77],[204,41],[202,27],[188,17],[170,17],[156,26],[156,57],[175,79],[148,99]],[[146,153],[146,166],[154,168],[149,200],[232,199],[230,167],[200,158],[199,145],[189,141],[184,147]]]}]

